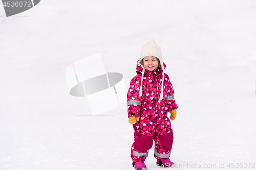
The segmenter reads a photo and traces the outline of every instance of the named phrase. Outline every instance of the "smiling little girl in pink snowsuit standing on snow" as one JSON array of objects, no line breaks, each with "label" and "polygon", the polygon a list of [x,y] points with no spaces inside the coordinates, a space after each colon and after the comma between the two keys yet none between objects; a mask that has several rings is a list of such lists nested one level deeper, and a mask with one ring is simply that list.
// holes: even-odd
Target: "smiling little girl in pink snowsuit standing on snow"
[{"label": "smiling little girl in pink snowsuit standing on snow", "polygon": [[172,83],[164,73],[165,67],[159,45],[154,39],[147,40],[137,61],[137,76],[131,80],[127,94],[129,123],[134,128],[131,157],[135,169],[146,169],[144,161],[153,140],[157,165],[174,165],[169,159],[173,130],[167,112],[170,112],[170,119],[174,120],[178,106],[174,100]]}]

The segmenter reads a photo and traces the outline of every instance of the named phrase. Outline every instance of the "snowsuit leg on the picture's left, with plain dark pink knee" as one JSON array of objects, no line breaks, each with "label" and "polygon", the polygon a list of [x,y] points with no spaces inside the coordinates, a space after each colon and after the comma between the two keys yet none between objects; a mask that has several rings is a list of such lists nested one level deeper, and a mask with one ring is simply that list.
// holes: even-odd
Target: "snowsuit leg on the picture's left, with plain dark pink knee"
[{"label": "snowsuit leg on the picture's left, with plain dark pink knee", "polygon": [[132,144],[131,158],[133,162],[145,161],[148,150],[152,148],[154,136],[138,134],[136,124],[134,128],[134,143]]}]

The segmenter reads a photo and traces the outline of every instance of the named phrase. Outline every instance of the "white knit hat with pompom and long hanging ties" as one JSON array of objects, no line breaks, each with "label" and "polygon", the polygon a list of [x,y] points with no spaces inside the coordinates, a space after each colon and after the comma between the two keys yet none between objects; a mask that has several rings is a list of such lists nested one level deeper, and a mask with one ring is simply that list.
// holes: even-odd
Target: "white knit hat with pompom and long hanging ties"
[{"label": "white knit hat with pompom and long hanging ties", "polygon": [[138,64],[143,68],[143,70],[142,70],[142,76],[141,76],[141,85],[140,85],[139,96],[142,96],[142,81],[143,81],[143,75],[145,72],[145,68],[142,64],[142,61],[143,61],[143,58],[145,58],[146,56],[157,57],[160,61],[161,69],[163,70],[161,94],[160,94],[160,98],[159,98],[159,101],[161,101],[163,99],[164,66],[163,66],[161,48],[159,45],[156,44],[156,41],[153,38],[147,40],[146,44],[142,47],[142,49],[140,51],[140,60],[139,60]]}]

